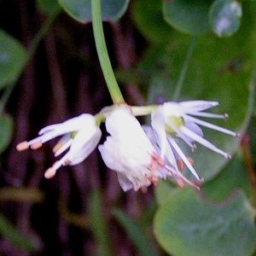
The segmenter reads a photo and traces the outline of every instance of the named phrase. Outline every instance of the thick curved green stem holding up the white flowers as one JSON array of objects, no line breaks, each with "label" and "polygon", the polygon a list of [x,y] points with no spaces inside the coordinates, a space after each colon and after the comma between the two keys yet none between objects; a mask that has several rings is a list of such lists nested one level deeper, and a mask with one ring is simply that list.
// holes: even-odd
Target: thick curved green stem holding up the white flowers
[{"label": "thick curved green stem holding up the white flowers", "polygon": [[108,56],[108,49],[102,26],[101,0],[91,0],[91,16],[94,38],[96,42],[96,50],[101,63],[102,72],[106,80],[110,96],[114,104],[125,103],[122,93],[119,89],[113,68]]}]

